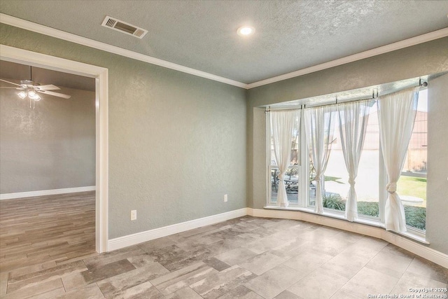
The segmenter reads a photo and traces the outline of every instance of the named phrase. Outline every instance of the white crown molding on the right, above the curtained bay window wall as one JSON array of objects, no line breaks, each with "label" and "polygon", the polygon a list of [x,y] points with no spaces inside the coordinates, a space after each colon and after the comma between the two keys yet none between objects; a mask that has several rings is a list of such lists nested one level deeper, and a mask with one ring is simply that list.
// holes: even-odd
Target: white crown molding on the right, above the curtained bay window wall
[{"label": "white crown molding on the right, above the curtained bay window wall", "polygon": [[439,29],[433,32],[429,32],[427,34],[421,34],[419,36],[414,36],[410,39],[404,39],[402,41],[397,41],[396,43],[390,43],[386,46],[381,46],[378,48],[374,48],[371,50],[367,50],[364,52],[356,53],[350,56],[342,57],[337,60],[332,60],[330,62],[324,62],[322,64],[317,64],[312,67],[307,67],[305,69],[299,69],[298,71],[292,71],[288,74],[283,74],[280,76],[275,76],[272,78],[267,78],[262,81],[250,83],[247,86],[247,89],[257,88],[258,86],[267,85],[270,83],[283,81],[286,79],[303,76],[306,74],[314,73],[315,71],[322,71],[323,69],[330,69],[330,67],[337,67],[342,64],[356,62],[357,60],[363,60],[368,57],[381,55],[384,53],[392,52],[395,50],[400,50],[402,48],[407,48],[410,46],[418,45],[419,43],[426,43],[427,41],[433,41],[435,39],[442,39],[443,37],[448,36],[448,27]]}]

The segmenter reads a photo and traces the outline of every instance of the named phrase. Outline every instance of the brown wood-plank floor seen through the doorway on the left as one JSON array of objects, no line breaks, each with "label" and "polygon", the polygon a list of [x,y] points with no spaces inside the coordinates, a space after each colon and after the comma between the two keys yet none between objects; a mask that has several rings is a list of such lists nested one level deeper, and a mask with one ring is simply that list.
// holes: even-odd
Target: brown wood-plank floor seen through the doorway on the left
[{"label": "brown wood-plank floor seen through the doorway on the left", "polygon": [[94,252],[94,191],[1,200],[1,272]]}]

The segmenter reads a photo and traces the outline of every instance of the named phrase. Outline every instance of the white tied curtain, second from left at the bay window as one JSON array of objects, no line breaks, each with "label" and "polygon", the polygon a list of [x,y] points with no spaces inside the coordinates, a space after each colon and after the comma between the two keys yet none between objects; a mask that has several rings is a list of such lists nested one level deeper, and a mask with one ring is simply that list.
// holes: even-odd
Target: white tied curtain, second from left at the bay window
[{"label": "white tied curtain, second from left at the bay window", "polygon": [[320,106],[305,110],[305,130],[311,151],[311,161],[316,171],[316,205],[314,211],[323,213],[323,173],[330,158],[333,138],[332,113],[334,106]]}]

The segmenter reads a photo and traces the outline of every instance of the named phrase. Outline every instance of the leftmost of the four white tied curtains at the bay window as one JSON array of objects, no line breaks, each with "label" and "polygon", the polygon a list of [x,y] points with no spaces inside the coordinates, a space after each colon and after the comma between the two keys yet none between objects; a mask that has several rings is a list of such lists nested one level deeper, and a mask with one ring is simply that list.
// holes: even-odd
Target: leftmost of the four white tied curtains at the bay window
[{"label": "leftmost of the four white tied curtains at the bay window", "polygon": [[279,167],[279,190],[277,193],[277,204],[280,207],[288,207],[288,196],[283,179],[290,164],[291,150],[296,120],[300,123],[300,111],[271,111],[272,142],[274,144],[274,155]]}]

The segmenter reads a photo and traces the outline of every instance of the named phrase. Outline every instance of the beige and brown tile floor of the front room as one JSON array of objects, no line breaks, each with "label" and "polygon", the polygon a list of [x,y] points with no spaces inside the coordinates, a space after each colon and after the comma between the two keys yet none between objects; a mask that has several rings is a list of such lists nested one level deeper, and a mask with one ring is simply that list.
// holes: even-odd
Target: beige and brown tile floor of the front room
[{"label": "beige and brown tile floor of the front room", "polygon": [[110,253],[1,272],[0,281],[1,298],[20,299],[350,299],[447,288],[448,269],[379,239],[244,216]]}]

